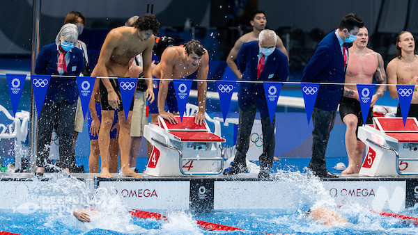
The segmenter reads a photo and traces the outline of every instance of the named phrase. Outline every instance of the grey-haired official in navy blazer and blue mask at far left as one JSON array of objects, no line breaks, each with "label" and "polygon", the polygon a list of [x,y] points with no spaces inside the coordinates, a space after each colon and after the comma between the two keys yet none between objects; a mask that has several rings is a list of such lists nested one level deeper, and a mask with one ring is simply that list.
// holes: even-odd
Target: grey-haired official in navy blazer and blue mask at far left
[{"label": "grey-haired official in navy blazer and blue mask at far left", "polygon": [[[60,167],[69,172],[72,156],[72,133],[77,108],[78,76],[84,67],[83,51],[75,48],[78,30],[75,24],[65,24],[56,35],[55,43],[42,47],[35,65],[36,74],[53,76],[49,81],[45,102],[38,121],[37,174],[42,174],[47,165],[52,129],[55,126],[59,137]],[[41,104],[37,104],[41,105]]]}]

